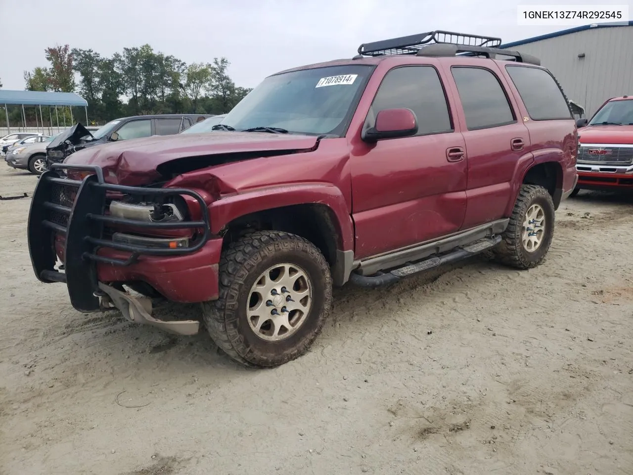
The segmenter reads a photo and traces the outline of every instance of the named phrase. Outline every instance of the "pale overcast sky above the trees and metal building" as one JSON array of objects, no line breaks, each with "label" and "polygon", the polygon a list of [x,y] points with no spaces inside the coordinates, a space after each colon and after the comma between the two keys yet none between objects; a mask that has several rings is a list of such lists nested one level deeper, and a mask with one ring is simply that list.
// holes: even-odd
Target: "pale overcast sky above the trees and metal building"
[{"label": "pale overcast sky above the trees and metal building", "polygon": [[[226,56],[235,84],[270,73],[351,58],[362,42],[444,29],[516,41],[569,27],[517,25],[520,4],[569,0],[0,0],[4,89],[24,89],[23,72],[47,66],[57,44],[111,56],[149,43],[185,61]],[[574,4],[628,4],[633,0]],[[4,29],[4,28],[3,28]]]}]

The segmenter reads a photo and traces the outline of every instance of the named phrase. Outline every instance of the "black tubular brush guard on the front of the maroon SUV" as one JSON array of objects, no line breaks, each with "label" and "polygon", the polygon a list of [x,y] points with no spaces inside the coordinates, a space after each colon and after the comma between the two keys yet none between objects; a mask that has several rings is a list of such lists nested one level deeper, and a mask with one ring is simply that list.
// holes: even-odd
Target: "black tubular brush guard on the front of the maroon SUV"
[{"label": "black tubular brush guard on the front of the maroon SUV", "polygon": [[[90,172],[82,181],[62,178],[57,170]],[[76,196],[71,198],[72,191]],[[115,191],[165,198],[189,195],[200,206],[201,221],[145,222],[120,219],[106,215],[106,193]],[[104,225],[125,225],[147,229],[203,229],[203,234],[187,248],[150,248],[115,243],[104,238]],[[55,235],[65,236],[64,272],[55,269],[57,253]],[[74,308],[80,312],[99,309],[99,296],[103,291],[97,282],[96,263],[127,266],[137,262],[141,255],[177,256],[194,253],[210,239],[209,210],[203,198],[195,191],[182,188],[149,188],[108,184],[101,167],[93,165],[66,165],[56,163],[39,177],[28,213],[28,251],[35,276],[46,283],[65,282]],[[111,248],[130,253],[126,260],[97,255],[99,248]],[[60,266],[61,267],[61,266]]]}]

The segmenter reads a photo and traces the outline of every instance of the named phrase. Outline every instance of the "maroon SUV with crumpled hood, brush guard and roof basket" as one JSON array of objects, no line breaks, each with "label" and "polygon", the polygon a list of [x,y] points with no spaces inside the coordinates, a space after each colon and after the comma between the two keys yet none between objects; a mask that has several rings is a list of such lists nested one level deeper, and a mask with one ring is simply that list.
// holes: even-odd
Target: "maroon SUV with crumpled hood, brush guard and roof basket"
[{"label": "maroon SUV with crumpled hood, brush guard and roof basket", "polygon": [[[35,189],[37,278],[65,282],[82,312],[204,325],[234,360],[269,367],[310,347],[332,286],[484,251],[535,267],[576,185],[575,121],[536,58],[457,35],[277,73],[213,132],[73,153]],[[156,319],[156,296],[201,303],[203,322]]]}]

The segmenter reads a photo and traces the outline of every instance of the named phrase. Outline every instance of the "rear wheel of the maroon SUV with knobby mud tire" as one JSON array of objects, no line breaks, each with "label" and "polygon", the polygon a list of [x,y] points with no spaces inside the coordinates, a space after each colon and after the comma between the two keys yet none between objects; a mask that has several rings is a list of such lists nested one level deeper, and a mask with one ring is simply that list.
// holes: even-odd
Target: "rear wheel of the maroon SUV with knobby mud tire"
[{"label": "rear wheel of the maroon SUV with knobby mud tire", "polygon": [[[530,214],[527,217],[528,213]],[[522,185],[508,228],[501,235],[501,243],[493,250],[494,258],[517,269],[530,269],[539,265],[548,253],[554,236],[554,214],[554,203],[546,189],[536,185]],[[531,228],[533,224],[529,217],[536,220],[537,226],[542,226]],[[530,232],[536,232],[537,235],[532,236]],[[537,246],[534,244],[536,241],[532,241],[533,237],[540,239]],[[532,250],[529,246],[532,246]]]}]

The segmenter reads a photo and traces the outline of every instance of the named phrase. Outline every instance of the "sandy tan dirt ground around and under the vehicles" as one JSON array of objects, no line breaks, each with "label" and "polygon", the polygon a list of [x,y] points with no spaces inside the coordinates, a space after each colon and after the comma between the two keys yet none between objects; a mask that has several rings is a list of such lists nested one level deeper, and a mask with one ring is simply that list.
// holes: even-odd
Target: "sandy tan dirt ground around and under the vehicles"
[{"label": "sandy tan dirt ground around and under the vehicles", "polygon": [[[1,195],[32,192],[0,165]],[[631,198],[565,201],[534,270],[339,289],[311,352],[265,371],[73,310],[32,272],[29,205],[0,201],[3,475],[633,474]]]}]

